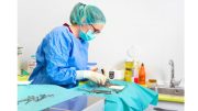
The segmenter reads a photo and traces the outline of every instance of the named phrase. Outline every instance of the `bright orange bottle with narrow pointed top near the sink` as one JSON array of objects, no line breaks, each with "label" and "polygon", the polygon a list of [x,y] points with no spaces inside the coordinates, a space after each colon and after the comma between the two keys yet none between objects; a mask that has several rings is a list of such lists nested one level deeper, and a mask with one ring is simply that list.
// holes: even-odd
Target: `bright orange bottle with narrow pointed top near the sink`
[{"label": "bright orange bottle with narrow pointed top near the sink", "polygon": [[139,70],[139,84],[145,85],[145,68],[144,64],[141,65],[141,68]]}]

